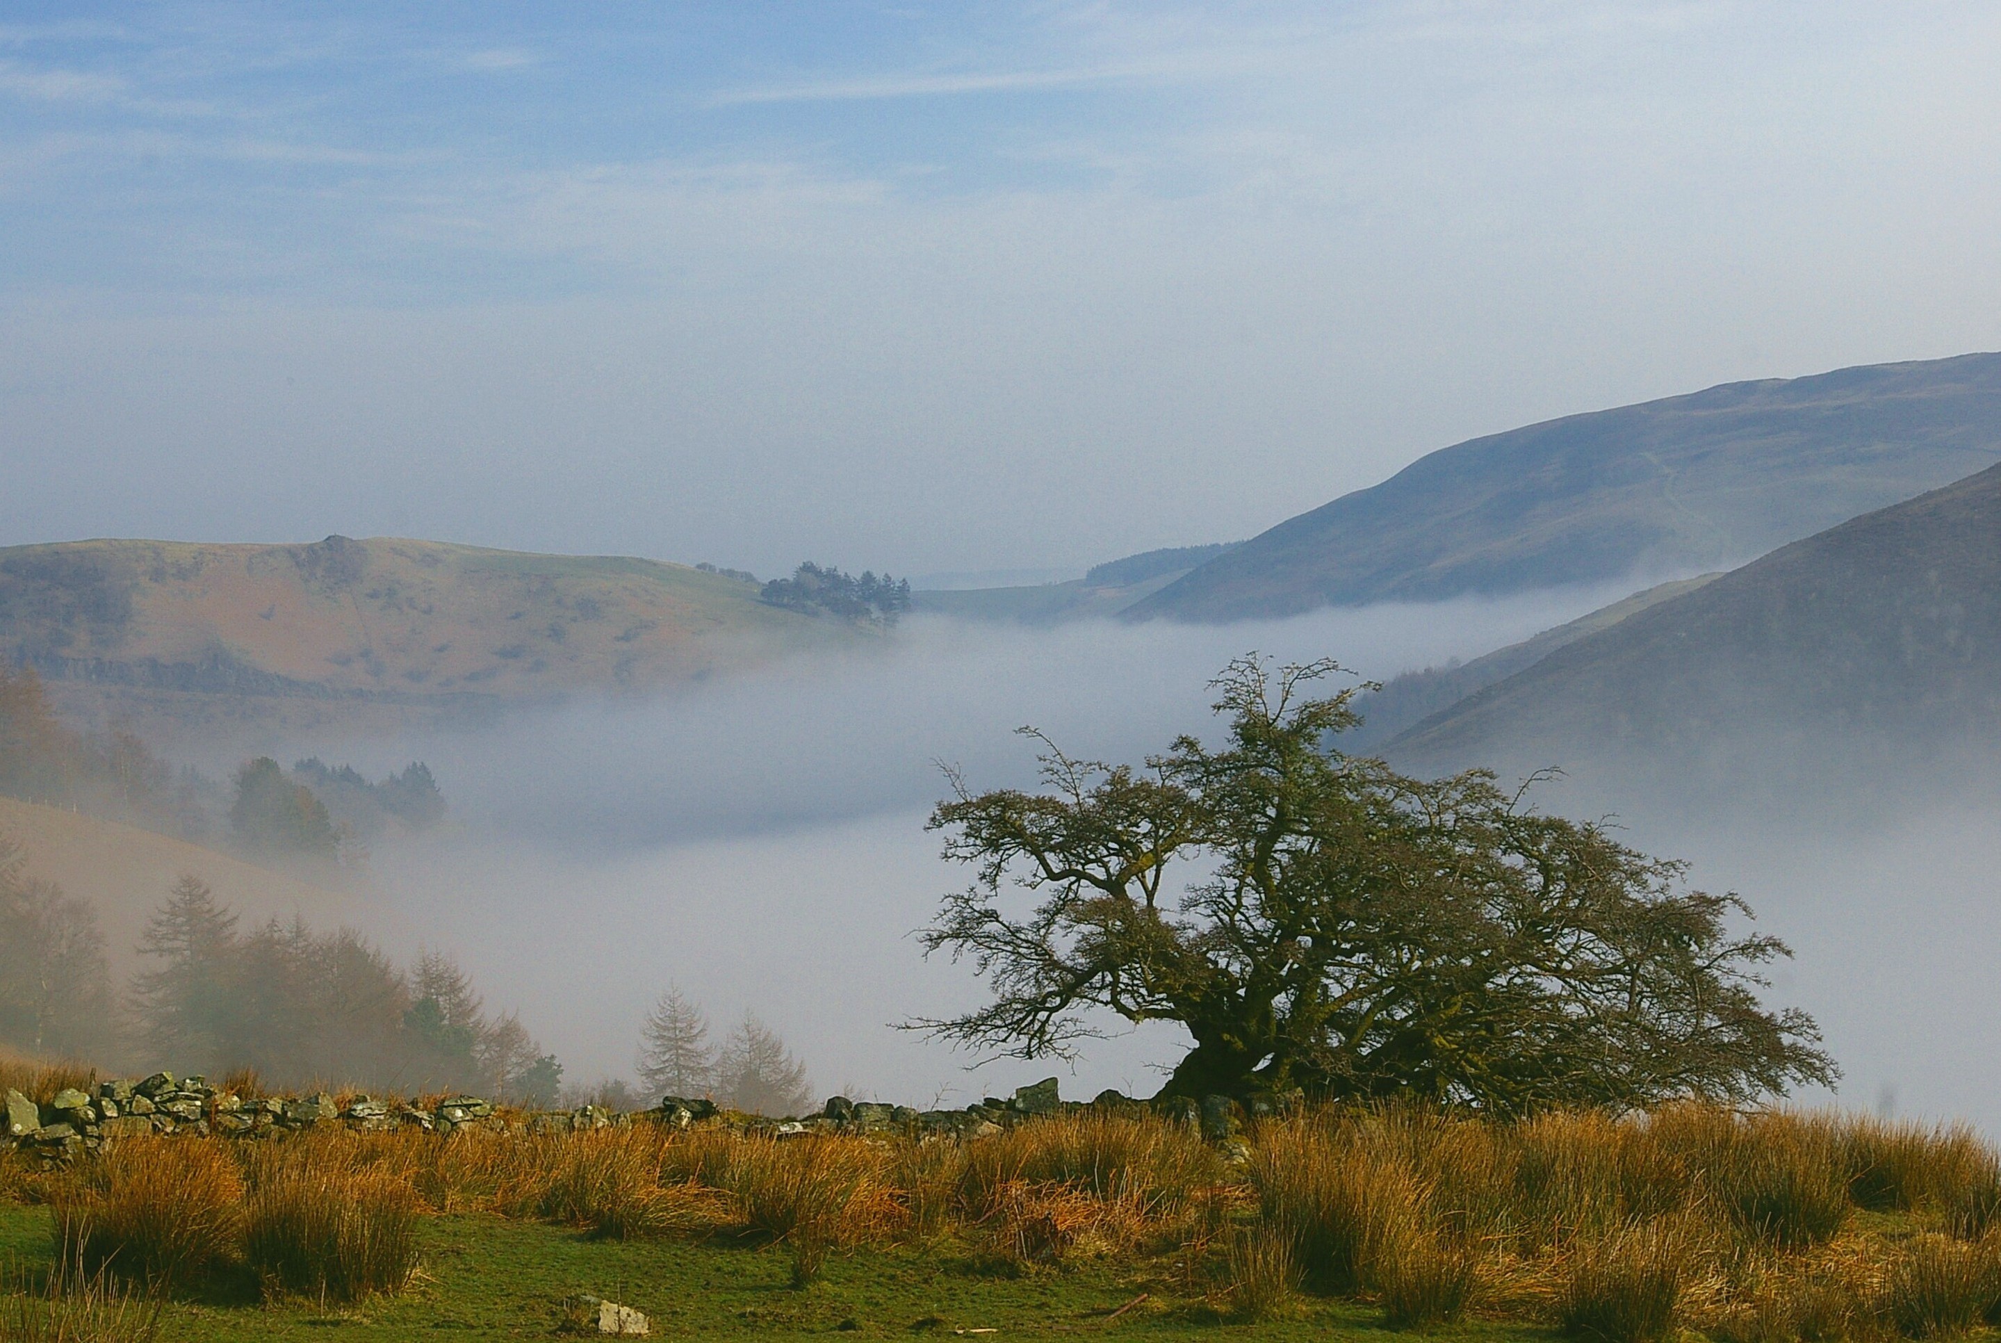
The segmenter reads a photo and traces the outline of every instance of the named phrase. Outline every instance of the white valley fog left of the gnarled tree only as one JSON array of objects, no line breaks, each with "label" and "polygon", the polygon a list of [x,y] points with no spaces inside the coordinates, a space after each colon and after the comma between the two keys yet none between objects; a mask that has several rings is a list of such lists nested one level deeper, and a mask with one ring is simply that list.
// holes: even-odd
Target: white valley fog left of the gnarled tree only
[{"label": "white valley fog left of the gnarled tree only", "polygon": [[[1153,1093],[1173,1027],[1087,1047],[1075,1069],[992,1063],[898,1031],[976,1001],[970,971],[910,937],[968,875],[924,831],[940,765],[1033,787],[1035,725],[1067,753],[1139,761],[1209,733],[1223,664],[1335,656],[1393,677],[1475,656],[1625,596],[1629,584],[1231,626],[1057,628],[914,618],[846,654],[798,656],[650,701],[578,701],[496,727],[280,751],[366,773],[426,761],[444,835],[380,849],[372,931],[454,955],[518,1011],[568,1081],[632,1069],[638,1023],[678,983],[722,1031],[754,1009],[826,1093],[978,1099],[1059,1073],[1067,1093]],[[1337,685],[1351,681],[1337,679]],[[852,1095],[852,1091],[850,1091]]]}]

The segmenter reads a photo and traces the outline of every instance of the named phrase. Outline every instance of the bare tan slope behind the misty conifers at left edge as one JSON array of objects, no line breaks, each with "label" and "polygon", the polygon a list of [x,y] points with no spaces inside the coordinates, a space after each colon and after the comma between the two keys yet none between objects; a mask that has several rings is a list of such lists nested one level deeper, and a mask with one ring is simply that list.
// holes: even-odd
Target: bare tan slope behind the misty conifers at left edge
[{"label": "bare tan slope behind the misty conifers at left edge", "polygon": [[286,877],[214,849],[98,821],[56,807],[0,797],[0,837],[20,845],[26,875],[54,881],[98,911],[106,953],[116,979],[134,967],[134,945],[166,891],[182,873],[206,881],[216,899],[234,907],[244,923],[290,921],[304,915],[318,929],[356,923],[368,899]]}]

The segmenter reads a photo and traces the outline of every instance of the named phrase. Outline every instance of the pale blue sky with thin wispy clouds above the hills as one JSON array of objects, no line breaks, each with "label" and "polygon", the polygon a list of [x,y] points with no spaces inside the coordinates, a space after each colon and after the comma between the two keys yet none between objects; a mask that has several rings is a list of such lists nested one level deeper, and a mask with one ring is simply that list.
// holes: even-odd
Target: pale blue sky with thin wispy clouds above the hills
[{"label": "pale blue sky with thin wispy clouds above the hills", "polygon": [[2001,10],[0,4],[0,544],[1235,540],[2001,346]]}]

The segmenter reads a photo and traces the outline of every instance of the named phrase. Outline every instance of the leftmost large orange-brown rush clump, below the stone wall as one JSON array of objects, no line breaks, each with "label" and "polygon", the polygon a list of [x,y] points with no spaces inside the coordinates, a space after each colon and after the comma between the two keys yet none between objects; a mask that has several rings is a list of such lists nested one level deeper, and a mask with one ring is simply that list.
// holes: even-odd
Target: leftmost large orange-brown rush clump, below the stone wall
[{"label": "leftmost large orange-brown rush clump, below the stone wall", "polygon": [[154,1285],[236,1257],[244,1183],[216,1143],[132,1137],[54,1187],[58,1257]]}]

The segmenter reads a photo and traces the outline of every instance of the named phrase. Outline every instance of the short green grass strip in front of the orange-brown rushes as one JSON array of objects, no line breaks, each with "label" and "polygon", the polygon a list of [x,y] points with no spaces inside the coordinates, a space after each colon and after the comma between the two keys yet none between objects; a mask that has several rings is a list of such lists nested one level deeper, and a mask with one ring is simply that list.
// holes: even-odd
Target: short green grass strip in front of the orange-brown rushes
[{"label": "short green grass strip in front of the orange-brown rushes", "polygon": [[[1307,1301],[1299,1319],[1231,1325],[1205,1319],[1201,1293],[1177,1283],[1173,1257],[1045,1269],[988,1277],[952,1249],[936,1247],[834,1255],[822,1281],[788,1285],[782,1251],[734,1243],[594,1241],[542,1223],[490,1215],[422,1221],[418,1279],[396,1297],[322,1309],[314,1301],[264,1305],[248,1279],[176,1297],[160,1319],[160,1343],[236,1339],[364,1341],[552,1337],[560,1303],[572,1293],[620,1301],[652,1317],[652,1337],[788,1339],[990,1337],[1045,1339],[1119,1335],[1131,1339],[1327,1339],[1385,1337],[1375,1311],[1347,1301]],[[50,1213],[0,1205],[0,1263],[48,1261]],[[1113,1311],[1147,1293],[1117,1319]],[[974,1333],[990,1329],[992,1333]],[[1429,1333],[1437,1339],[1545,1339],[1547,1331],[1471,1323]]]}]

